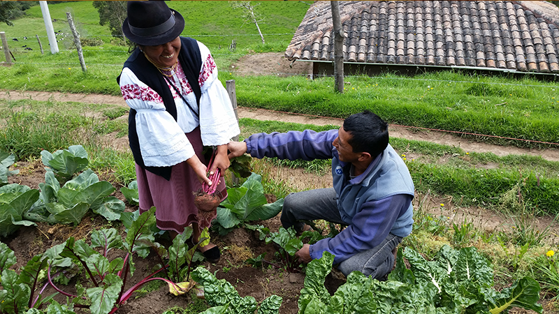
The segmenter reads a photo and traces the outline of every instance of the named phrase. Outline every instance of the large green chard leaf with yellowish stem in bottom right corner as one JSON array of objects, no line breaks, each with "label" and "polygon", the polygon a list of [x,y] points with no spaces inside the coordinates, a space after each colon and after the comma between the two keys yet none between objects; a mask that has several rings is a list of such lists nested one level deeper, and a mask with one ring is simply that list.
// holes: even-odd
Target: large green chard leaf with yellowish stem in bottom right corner
[{"label": "large green chard leaf with yellowish stem in bottom right corner", "polygon": [[511,285],[497,293],[486,293],[486,301],[488,303],[488,311],[491,314],[501,313],[511,307],[525,308],[542,313],[543,308],[537,304],[539,301],[539,283],[530,277],[524,277],[520,281],[516,281]]}]

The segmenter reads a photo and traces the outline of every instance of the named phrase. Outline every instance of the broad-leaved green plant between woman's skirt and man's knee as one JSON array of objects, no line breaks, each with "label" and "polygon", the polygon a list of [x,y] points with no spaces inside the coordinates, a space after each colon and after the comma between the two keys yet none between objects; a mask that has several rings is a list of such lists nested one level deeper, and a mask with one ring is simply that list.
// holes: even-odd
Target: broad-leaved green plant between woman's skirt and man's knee
[{"label": "broad-leaved green plant between woman's skirt and man's knee", "polygon": [[261,181],[259,174],[252,173],[242,186],[227,189],[228,197],[217,207],[215,227],[219,234],[225,235],[250,221],[273,218],[282,211],[284,199],[268,204]]}]

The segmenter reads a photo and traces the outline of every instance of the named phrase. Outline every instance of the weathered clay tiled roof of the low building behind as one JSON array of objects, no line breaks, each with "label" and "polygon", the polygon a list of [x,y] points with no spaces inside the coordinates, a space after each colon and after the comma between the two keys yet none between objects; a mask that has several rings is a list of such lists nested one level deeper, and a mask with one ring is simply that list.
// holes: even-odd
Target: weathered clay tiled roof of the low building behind
[{"label": "weathered clay tiled roof of the low building behind", "polygon": [[[546,1],[340,1],[344,61],[559,73],[559,8]],[[333,61],[330,1],[313,3],[285,56]]]}]

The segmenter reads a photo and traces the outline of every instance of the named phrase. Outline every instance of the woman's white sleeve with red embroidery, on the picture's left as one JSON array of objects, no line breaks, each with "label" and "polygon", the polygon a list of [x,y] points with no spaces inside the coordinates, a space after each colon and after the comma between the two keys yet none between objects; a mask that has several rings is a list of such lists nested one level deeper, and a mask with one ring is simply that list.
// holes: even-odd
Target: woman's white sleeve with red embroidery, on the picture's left
[{"label": "woman's white sleeve with red embroidery, on the picture's left", "polygon": [[161,96],[129,68],[122,70],[120,90],[126,104],[136,110],[136,133],[145,165],[166,167],[194,156],[194,148],[165,110]]}]

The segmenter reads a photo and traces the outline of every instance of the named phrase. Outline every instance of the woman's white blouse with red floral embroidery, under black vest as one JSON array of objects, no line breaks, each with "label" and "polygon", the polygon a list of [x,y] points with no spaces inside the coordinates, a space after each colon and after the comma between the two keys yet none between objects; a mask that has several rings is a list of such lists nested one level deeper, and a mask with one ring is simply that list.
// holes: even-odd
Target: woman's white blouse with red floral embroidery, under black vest
[{"label": "woman's white blouse with red floral embroidery, under black vest", "polygon": [[[202,68],[198,84],[202,91],[199,116],[167,85],[177,107],[177,121],[165,110],[163,99],[153,89],[141,82],[129,68],[123,68],[120,76],[120,91],[126,103],[136,110],[136,131],[140,151],[146,166],[165,167],[182,163],[194,156],[194,149],[184,133],[200,126],[205,146],[227,144],[240,130],[233,112],[231,100],[217,78],[217,68],[208,47],[198,42],[202,56]],[[181,92],[184,99],[198,111],[196,96],[178,63],[170,81]]]}]

